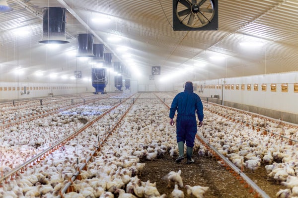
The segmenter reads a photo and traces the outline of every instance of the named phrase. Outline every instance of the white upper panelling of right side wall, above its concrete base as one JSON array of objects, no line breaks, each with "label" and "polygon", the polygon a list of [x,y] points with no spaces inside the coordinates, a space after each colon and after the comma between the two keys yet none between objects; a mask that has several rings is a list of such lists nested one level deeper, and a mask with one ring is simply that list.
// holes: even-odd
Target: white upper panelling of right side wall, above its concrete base
[{"label": "white upper panelling of right side wall, above its concrete base", "polygon": [[[220,95],[220,99],[224,101],[298,114],[298,93],[294,92],[294,84],[298,83],[298,72],[194,81],[193,83],[197,83],[198,86],[203,85],[203,92],[196,91],[202,97]],[[276,83],[276,92],[271,91],[271,83]],[[282,92],[282,83],[288,83],[288,92]],[[231,84],[234,85],[233,90],[226,89],[224,86]],[[239,90],[236,90],[237,84]],[[244,90],[241,90],[241,84],[244,84]],[[247,84],[251,85],[250,91],[247,90]],[[254,90],[254,84],[258,84],[257,91]],[[266,84],[266,91],[262,91],[262,84]],[[222,88],[217,88],[217,85],[222,85]],[[175,84],[174,89],[183,90],[182,86],[183,83]]]}]

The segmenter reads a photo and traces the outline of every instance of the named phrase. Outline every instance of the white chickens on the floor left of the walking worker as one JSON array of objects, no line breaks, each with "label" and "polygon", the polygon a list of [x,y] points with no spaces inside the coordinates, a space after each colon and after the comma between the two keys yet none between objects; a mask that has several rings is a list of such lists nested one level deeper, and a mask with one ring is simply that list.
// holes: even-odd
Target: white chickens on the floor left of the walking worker
[{"label": "white chickens on the floor left of the walking worker", "polygon": [[[152,95],[147,94],[142,94],[142,96],[144,98],[152,97]],[[101,100],[101,104],[95,105],[102,106],[101,111],[103,112],[107,107],[114,106],[114,103],[111,104],[109,101],[111,100]],[[144,105],[145,102],[146,105]],[[130,105],[131,101],[129,100],[123,102],[119,107],[102,117],[100,122],[94,123],[84,132],[79,133],[74,139],[52,152],[33,168],[28,168],[23,173],[19,172],[13,180],[7,184],[3,183],[3,187],[0,188],[0,197],[50,198],[59,196],[59,192],[71,181],[70,178],[79,170],[78,168],[86,162],[85,160],[90,156],[95,146],[98,146],[98,140],[107,137],[107,133],[110,132],[121,114]],[[81,108],[83,107],[69,112],[61,112],[43,120],[21,124],[15,129],[6,129],[5,132],[1,132],[1,143],[3,143],[1,153],[5,153],[3,156],[8,157],[1,158],[2,173],[7,173],[12,166],[16,167],[22,161],[27,160],[27,158],[18,155],[20,162],[17,163],[16,153],[20,150],[29,152],[26,156],[30,158],[30,156],[48,147],[50,143],[63,138],[66,133],[81,127],[80,120],[90,121],[96,116],[96,114],[83,113],[87,109],[91,111],[95,108],[89,108],[87,105],[84,110]],[[141,174],[145,166],[144,163],[140,163],[141,158],[153,160],[164,155],[168,150],[176,150],[175,130],[173,128],[168,129],[167,114],[168,109],[158,99],[138,99],[124,117],[122,126],[108,136],[101,145],[100,151],[97,151],[96,156],[94,155],[92,160],[87,163],[86,169],[80,171],[79,178],[72,183],[68,193],[64,194],[63,197],[166,197],[166,195],[159,194],[156,183],[143,182],[138,178],[138,174]],[[68,122],[65,122],[66,120]],[[29,132],[30,138],[26,136],[29,143],[20,144],[19,136]],[[160,132],[163,132],[164,135],[160,135]],[[40,134],[42,135],[40,136]],[[12,139],[18,139],[18,143],[11,143]],[[32,143],[30,143],[31,141]],[[10,152],[12,154],[8,156]],[[9,167],[7,164],[13,155],[15,158]],[[169,179],[169,181],[173,181],[173,179]],[[208,190],[208,188],[200,190],[200,187],[190,186],[185,186],[185,188],[188,188],[190,195],[196,197],[202,197]],[[177,189],[175,191],[173,189],[172,197],[178,198],[178,195],[175,194],[176,191]]]}]

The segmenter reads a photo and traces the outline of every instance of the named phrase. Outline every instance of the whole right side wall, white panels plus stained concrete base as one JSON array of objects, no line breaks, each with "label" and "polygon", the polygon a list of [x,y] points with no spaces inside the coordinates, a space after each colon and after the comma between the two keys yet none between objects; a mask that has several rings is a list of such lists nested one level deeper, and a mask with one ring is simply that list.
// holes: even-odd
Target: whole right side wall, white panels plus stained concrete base
[{"label": "whole right side wall, white panels plus stained concrete base", "polygon": [[[210,102],[298,123],[298,72],[222,78],[193,83],[197,86],[195,92],[202,99],[208,98]],[[271,90],[273,84],[276,85],[276,90]],[[262,90],[262,85],[266,85],[266,90]],[[288,85],[287,91],[284,85]],[[182,91],[182,84],[176,84],[174,90]]]}]

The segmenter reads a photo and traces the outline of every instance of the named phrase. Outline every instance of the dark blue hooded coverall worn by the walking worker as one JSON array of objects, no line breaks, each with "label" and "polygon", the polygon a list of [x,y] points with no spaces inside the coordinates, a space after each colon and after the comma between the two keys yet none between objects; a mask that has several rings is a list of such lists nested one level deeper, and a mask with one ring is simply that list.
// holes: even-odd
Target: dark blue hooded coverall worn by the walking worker
[{"label": "dark blue hooded coverall worn by the walking worker", "polygon": [[203,121],[203,104],[201,98],[193,92],[193,86],[185,86],[183,92],[178,93],[171,104],[170,119],[177,110],[176,133],[177,142],[186,142],[186,146],[193,147],[197,134],[196,113],[199,121]]}]

